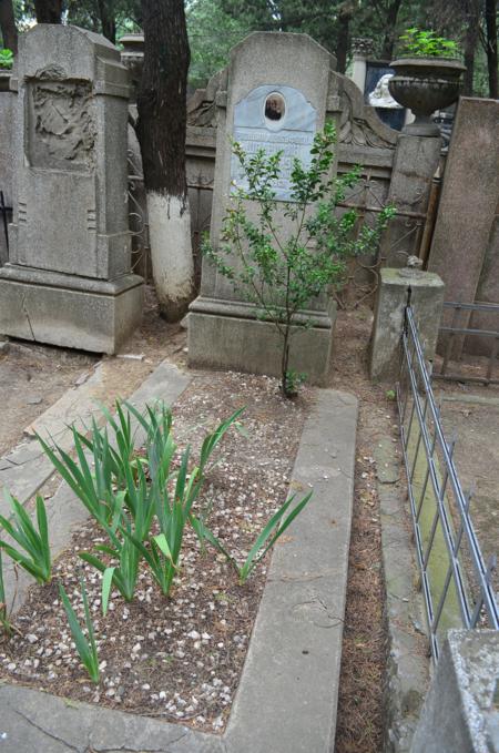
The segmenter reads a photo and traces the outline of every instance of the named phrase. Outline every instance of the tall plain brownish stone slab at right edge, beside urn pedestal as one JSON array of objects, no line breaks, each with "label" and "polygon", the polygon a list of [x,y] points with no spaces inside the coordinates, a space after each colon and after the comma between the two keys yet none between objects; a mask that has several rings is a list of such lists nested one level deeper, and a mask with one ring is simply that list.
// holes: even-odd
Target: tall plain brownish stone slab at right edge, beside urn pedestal
[{"label": "tall plain brownish stone slab at right edge, beside urn pedestal", "polygon": [[[499,101],[461,98],[428,262],[428,269],[446,284],[447,301],[499,302],[498,164]],[[444,323],[448,316],[452,314]],[[487,319],[480,315],[480,320]],[[468,322],[469,313],[464,312],[456,326]],[[495,316],[495,326],[488,328],[497,328],[497,322]]]}]

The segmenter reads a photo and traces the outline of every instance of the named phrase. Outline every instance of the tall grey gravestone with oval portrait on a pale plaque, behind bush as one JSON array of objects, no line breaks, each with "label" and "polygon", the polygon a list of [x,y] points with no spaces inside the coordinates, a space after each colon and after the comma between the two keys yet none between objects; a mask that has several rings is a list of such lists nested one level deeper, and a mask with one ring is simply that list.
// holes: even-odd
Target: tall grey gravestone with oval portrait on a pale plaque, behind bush
[{"label": "tall grey gravestone with oval portrait on a pale plaque, behind bush", "polygon": [[[259,147],[267,154],[283,151],[281,175],[273,187],[278,201],[289,201],[293,159],[309,164],[315,133],[324,128],[326,118],[336,122],[339,115],[334,67],[335,59],[305,34],[255,32],[232,50],[222,79],[227,82],[226,91],[221,88],[216,94],[211,223],[214,247],[220,244],[223,218],[233,202],[233,186],[244,187],[231,140],[238,141],[247,154]],[[283,213],[279,224],[284,234],[291,230],[288,222]],[[336,307],[324,296],[313,302],[310,309],[313,326],[295,332],[289,367],[322,383],[329,370]],[[259,320],[257,314],[254,304],[204,260],[201,294],[189,315],[190,364],[279,375],[281,337],[274,325]]]}]

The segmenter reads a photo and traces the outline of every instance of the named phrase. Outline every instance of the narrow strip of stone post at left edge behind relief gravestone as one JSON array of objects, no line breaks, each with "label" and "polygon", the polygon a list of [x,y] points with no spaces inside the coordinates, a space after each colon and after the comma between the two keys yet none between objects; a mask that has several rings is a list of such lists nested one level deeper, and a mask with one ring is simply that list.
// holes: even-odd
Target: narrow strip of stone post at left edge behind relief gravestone
[{"label": "narrow strip of stone post at left edge behind relief gravestone", "polygon": [[[0,69],[0,191],[6,206],[12,206],[12,131],[16,94],[9,89],[11,72]],[[0,266],[8,260],[7,216],[0,207]]]}]

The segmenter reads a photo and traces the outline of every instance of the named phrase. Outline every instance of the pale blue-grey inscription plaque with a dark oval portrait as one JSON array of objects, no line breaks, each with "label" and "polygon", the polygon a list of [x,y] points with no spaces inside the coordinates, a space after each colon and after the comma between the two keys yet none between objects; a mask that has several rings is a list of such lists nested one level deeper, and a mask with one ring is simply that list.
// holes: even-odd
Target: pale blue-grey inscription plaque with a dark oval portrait
[{"label": "pale blue-grey inscription plaque with a dark oval portrait", "polygon": [[[310,146],[317,113],[297,89],[268,84],[257,87],[234,108],[234,140],[246,154],[264,149],[267,154],[282,151],[281,175],[273,187],[278,201],[292,201],[291,173],[294,159],[310,164]],[[234,187],[247,189],[244,172],[233,155],[231,181]]]}]

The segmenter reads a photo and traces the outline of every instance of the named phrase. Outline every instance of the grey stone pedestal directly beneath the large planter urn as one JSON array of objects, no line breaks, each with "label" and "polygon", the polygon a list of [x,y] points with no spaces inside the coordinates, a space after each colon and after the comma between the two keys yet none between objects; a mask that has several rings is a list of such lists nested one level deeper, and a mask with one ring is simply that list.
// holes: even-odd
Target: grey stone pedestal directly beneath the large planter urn
[{"label": "grey stone pedestal directly beneath the large planter urn", "polygon": [[419,255],[431,181],[440,161],[441,138],[400,133],[394,157],[388,203],[397,216],[384,233],[380,255],[386,266],[405,266]]}]

